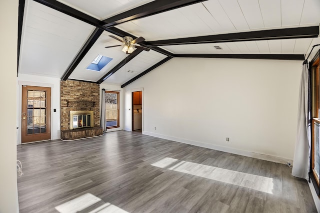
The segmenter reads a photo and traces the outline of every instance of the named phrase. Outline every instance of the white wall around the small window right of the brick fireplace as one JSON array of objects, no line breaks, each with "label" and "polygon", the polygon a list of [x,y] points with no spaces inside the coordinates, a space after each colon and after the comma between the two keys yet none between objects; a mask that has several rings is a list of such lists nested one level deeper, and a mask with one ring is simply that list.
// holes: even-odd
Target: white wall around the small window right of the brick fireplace
[{"label": "white wall around the small window right of the brick fireplace", "polygon": [[[100,113],[101,113],[101,99],[102,99],[102,89],[107,90],[114,90],[114,91],[120,91],[120,100],[119,100],[119,108],[120,108],[120,125],[119,128],[112,128],[112,129],[107,129],[107,132],[113,132],[113,131],[118,131],[118,130],[122,130],[123,129],[123,124],[124,124],[124,116],[123,116],[123,106],[124,106],[124,95],[123,95],[123,89],[121,88],[120,85],[116,85],[116,84],[106,84],[106,83],[102,83],[100,84]],[[100,114],[101,115],[101,114]]]}]

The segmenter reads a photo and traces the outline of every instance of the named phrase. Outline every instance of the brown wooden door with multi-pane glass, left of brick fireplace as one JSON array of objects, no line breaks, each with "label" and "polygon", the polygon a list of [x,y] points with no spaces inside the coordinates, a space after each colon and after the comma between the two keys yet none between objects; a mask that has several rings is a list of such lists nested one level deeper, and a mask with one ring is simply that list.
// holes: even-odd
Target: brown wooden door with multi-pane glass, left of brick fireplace
[{"label": "brown wooden door with multi-pane glass, left of brick fireplace", "polygon": [[22,86],[21,142],[50,140],[51,88]]}]

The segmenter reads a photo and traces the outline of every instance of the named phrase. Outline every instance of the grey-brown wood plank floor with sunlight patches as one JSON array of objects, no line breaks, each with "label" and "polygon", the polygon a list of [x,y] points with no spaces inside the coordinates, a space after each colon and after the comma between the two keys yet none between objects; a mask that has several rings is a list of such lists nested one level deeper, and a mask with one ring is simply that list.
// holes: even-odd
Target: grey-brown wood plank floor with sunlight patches
[{"label": "grey-brown wood plank floor with sunlight patches", "polygon": [[18,145],[17,159],[20,213],[316,212],[286,165],[141,132]]}]

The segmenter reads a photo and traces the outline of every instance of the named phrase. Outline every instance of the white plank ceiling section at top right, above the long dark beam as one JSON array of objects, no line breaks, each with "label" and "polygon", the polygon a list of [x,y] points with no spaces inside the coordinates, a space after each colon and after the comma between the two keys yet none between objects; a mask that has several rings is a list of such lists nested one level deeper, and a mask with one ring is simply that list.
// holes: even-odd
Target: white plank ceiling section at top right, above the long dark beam
[{"label": "white plank ceiling section at top right, above the long dark beam", "polygon": [[129,21],[118,28],[152,41],[318,25],[319,9],[319,0],[207,0]]}]

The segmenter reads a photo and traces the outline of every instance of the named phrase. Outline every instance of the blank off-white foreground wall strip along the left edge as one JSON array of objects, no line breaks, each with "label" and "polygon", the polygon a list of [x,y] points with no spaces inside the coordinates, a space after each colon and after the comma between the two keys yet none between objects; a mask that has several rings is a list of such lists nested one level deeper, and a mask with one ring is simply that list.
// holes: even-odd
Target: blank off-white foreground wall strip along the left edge
[{"label": "blank off-white foreground wall strip along the left edge", "polygon": [[16,213],[16,57],[18,0],[0,1],[0,213]]}]

